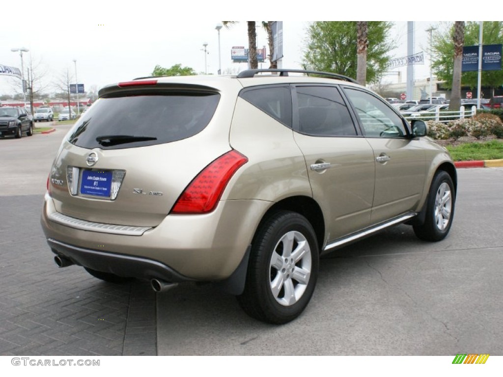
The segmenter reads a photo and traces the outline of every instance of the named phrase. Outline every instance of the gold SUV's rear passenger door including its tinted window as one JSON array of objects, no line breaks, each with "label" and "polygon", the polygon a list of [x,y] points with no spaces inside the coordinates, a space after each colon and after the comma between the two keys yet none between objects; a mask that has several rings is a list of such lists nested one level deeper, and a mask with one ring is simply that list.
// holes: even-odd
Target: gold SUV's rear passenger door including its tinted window
[{"label": "gold SUV's rear passenger door including its tinted window", "polygon": [[325,217],[327,241],[367,227],[374,155],[338,87],[296,85],[292,95],[294,138],[304,154],[313,198]]}]

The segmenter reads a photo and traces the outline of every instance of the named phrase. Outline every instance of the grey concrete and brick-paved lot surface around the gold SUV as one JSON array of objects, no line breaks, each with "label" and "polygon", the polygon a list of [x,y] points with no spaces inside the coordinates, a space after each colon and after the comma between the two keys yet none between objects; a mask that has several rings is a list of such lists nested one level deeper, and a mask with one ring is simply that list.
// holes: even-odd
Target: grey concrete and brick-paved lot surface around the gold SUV
[{"label": "grey concrete and brick-paved lot surface around the gold SUV", "polygon": [[306,311],[273,326],[212,285],[155,294],[58,269],[39,218],[68,126],[0,139],[0,355],[503,355],[502,168],[460,169],[442,242],[404,225],[327,255]]}]

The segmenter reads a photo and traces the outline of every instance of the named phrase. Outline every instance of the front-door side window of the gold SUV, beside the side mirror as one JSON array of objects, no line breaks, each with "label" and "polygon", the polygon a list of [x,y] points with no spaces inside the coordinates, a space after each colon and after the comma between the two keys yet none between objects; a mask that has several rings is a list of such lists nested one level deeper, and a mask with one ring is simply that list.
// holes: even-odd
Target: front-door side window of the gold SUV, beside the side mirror
[{"label": "front-door side window of the gold SUV, beside the side mirror", "polygon": [[370,137],[403,137],[406,135],[402,119],[379,100],[363,90],[345,88],[355,108],[365,135]]}]

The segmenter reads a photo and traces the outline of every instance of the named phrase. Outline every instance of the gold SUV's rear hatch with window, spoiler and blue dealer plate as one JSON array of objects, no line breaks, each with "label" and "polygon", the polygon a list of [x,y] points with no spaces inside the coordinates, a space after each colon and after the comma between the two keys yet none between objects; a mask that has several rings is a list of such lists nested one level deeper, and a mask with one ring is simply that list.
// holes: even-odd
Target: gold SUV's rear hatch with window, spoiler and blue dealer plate
[{"label": "gold SUV's rear hatch with window, spoiler and blue dealer plate", "polygon": [[96,223],[158,225],[191,180],[230,150],[220,100],[219,90],[198,85],[102,90],[54,161],[56,211]]}]

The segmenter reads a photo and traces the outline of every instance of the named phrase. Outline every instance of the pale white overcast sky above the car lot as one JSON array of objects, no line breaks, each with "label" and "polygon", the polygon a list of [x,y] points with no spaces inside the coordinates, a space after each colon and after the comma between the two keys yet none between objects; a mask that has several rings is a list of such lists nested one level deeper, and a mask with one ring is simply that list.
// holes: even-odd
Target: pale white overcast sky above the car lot
[{"label": "pale white overcast sky above the car lot", "polygon": [[[262,0],[261,0],[262,1]],[[105,5],[103,5],[103,3]],[[42,5],[27,8],[25,23],[14,21],[16,12],[9,12],[10,21],[0,23],[0,64],[8,66],[21,66],[19,53],[12,52],[12,48],[26,47],[29,53],[24,53],[23,59],[26,64],[31,57],[34,62],[40,62],[40,71],[47,71],[43,83],[49,85],[48,91],[52,91],[51,81],[69,71],[74,82],[75,64],[78,82],[85,84],[86,91],[92,85],[101,87],[108,83],[129,80],[139,76],[149,75],[156,64],[162,67],[171,67],[174,64],[182,64],[195,69],[197,72],[205,71],[205,54],[203,43],[207,43],[207,71],[216,74],[218,70],[218,33],[215,30],[220,19],[239,19],[244,16],[243,12],[238,15],[229,15],[225,12],[220,15],[215,7],[220,4],[226,9],[236,2],[190,2],[179,3],[179,6],[192,7],[198,15],[179,13],[174,9],[173,3],[158,3],[145,0],[136,2],[135,6],[124,6],[114,2],[114,5],[106,5],[106,2],[88,0],[80,2],[78,8],[70,2],[44,1]],[[76,4],[76,3],[75,3]],[[204,6],[198,5],[204,4]],[[255,3],[258,4],[258,3]],[[313,4],[310,2],[310,4]],[[334,3],[335,4],[335,3]],[[365,4],[362,3],[362,4]],[[388,9],[392,4],[387,3]],[[393,6],[393,7],[394,7]],[[34,8],[36,7],[36,8]],[[205,10],[204,8],[211,9]],[[352,5],[346,7],[346,14],[351,14]],[[354,7],[354,6],[353,6]],[[398,7],[398,6],[397,6]],[[280,7],[278,7],[279,9]],[[422,7],[427,9],[427,7]],[[264,8],[269,11],[269,8]],[[344,11],[338,8],[338,11]],[[402,7],[400,7],[402,9]],[[3,7],[5,11],[6,8]],[[2,12],[7,15],[7,13]],[[276,13],[274,12],[276,11]],[[439,12],[442,10],[439,9]],[[316,19],[314,16],[323,15],[323,12],[290,9],[291,15],[305,16],[306,19]],[[382,10],[381,10],[382,12]],[[263,10],[251,16],[259,18]],[[280,12],[281,13],[281,12]],[[393,19],[389,12],[388,18],[378,13],[368,14],[369,19]],[[282,19],[277,10],[272,9],[271,14],[266,13],[272,19]],[[340,13],[337,13],[340,14]],[[436,15],[440,13],[435,12]],[[288,13],[283,14],[287,20]],[[220,17],[221,16],[221,17]],[[378,17],[380,16],[380,17]],[[417,15],[414,15],[417,16]],[[326,17],[326,16],[325,16]],[[339,18],[344,19],[344,18]],[[426,51],[428,48],[428,33],[426,29],[437,25],[438,21],[415,22],[415,52]],[[305,28],[307,21],[284,21],[284,58],[283,67],[301,68],[302,47],[304,45]],[[267,35],[262,28],[257,28],[258,46],[267,45]],[[395,22],[392,38],[396,39],[397,49],[391,51],[392,57],[401,57],[407,54],[407,23]],[[227,69],[237,72],[246,69],[245,63],[232,63],[230,50],[232,46],[247,47],[246,22],[242,21],[223,28],[220,31],[220,53],[222,71]],[[416,66],[416,79],[429,76],[429,60],[425,56],[426,64]],[[263,64],[267,67],[267,63]],[[402,68],[405,74],[405,68]],[[405,77],[403,75],[403,77]],[[389,76],[389,81],[396,80]],[[0,76],[0,94],[12,93],[14,78]],[[19,80],[18,80],[19,82]],[[395,81],[396,82],[396,81]]]}]

